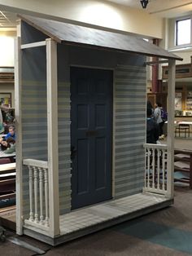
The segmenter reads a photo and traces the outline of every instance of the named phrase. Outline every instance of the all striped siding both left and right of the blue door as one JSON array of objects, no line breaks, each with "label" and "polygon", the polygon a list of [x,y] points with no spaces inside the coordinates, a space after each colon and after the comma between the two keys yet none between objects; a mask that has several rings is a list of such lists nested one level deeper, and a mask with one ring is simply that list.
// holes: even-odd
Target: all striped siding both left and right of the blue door
[{"label": "all striped siding both left and right of the blue door", "polygon": [[[116,68],[115,198],[142,191],[146,128],[145,68]],[[24,81],[22,90],[23,157],[47,161],[46,82]],[[59,82],[59,205],[71,210],[70,83]],[[28,170],[24,167],[24,214],[28,214]]]}]

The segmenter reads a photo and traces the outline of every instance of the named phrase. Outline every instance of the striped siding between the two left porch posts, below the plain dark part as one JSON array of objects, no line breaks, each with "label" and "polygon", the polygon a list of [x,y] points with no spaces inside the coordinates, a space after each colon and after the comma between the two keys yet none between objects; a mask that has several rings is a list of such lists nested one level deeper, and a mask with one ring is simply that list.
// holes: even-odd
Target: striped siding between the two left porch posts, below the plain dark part
[{"label": "striped siding between the two left porch posts, below the plain dark part", "polygon": [[[47,161],[46,82],[22,83],[22,147],[23,158]],[[28,218],[28,169],[23,166],[24,215]]]}]

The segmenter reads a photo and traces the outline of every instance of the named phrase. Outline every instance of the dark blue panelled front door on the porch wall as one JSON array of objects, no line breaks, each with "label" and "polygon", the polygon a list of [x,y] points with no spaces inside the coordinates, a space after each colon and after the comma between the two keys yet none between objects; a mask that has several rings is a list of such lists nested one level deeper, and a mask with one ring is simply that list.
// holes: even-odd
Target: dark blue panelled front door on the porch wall
[{"label": "dark blue panelled front door on the porch wall", "polygon": [[71,68],[72,209],[111,198],[112,77]]}]

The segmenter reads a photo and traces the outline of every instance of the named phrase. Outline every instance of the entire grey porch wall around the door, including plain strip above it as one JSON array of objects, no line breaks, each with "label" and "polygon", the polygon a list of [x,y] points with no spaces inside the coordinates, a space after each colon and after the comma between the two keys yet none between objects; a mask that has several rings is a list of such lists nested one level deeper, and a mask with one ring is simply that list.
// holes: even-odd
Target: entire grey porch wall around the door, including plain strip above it
[{"label": "entire grey porch wall around the door, including plain strip above it", "polygon": [[[25,34],[26,36],[26,34]],[[61,49],[64,49],[64,51]],[[89,52],[89,54],[87,54]],[[78,56],[76,54],[79,54]],[[85,58],[85,55],[89,58]],[[40,64],[41,60],[41,64]],[[64,60],[64,61],[63,61]],[[85,60],[85,61],[84,61]],[[89,61],[88,61],[89,60]],[[59,207],[71,210],[70,64],[114,68],[114,196],[141,192],[143,185],[146,118],[146,69],[140,57],[59,46]],[[140,60],[140,62],[139,62]],[[124,63],[126,66],[116,64]],[[22,55],[23,158],[47,161],[46,49],[28,49]],[[133,63],[133,66],[129,65]],[[92,64],[92,65],[91,65]],[[64,71],[64,72],[63,72]],[[23,166],[24,215],[28,216],[28,170]]]}]

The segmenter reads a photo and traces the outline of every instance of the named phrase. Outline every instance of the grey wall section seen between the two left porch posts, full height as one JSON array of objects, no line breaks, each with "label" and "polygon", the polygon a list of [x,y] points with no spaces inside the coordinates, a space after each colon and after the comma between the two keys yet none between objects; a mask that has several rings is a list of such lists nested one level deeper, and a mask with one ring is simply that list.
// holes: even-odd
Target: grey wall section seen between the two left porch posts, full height
[{"label": "grey wall section seen between the two left porch posts, full height", "polygon": [[[41,63],[40,63],[41,60]],[[47,161],[46,47],[22,51],[23,159]],[[24,216],[28,218],[28,169],[23,166]]]}]

